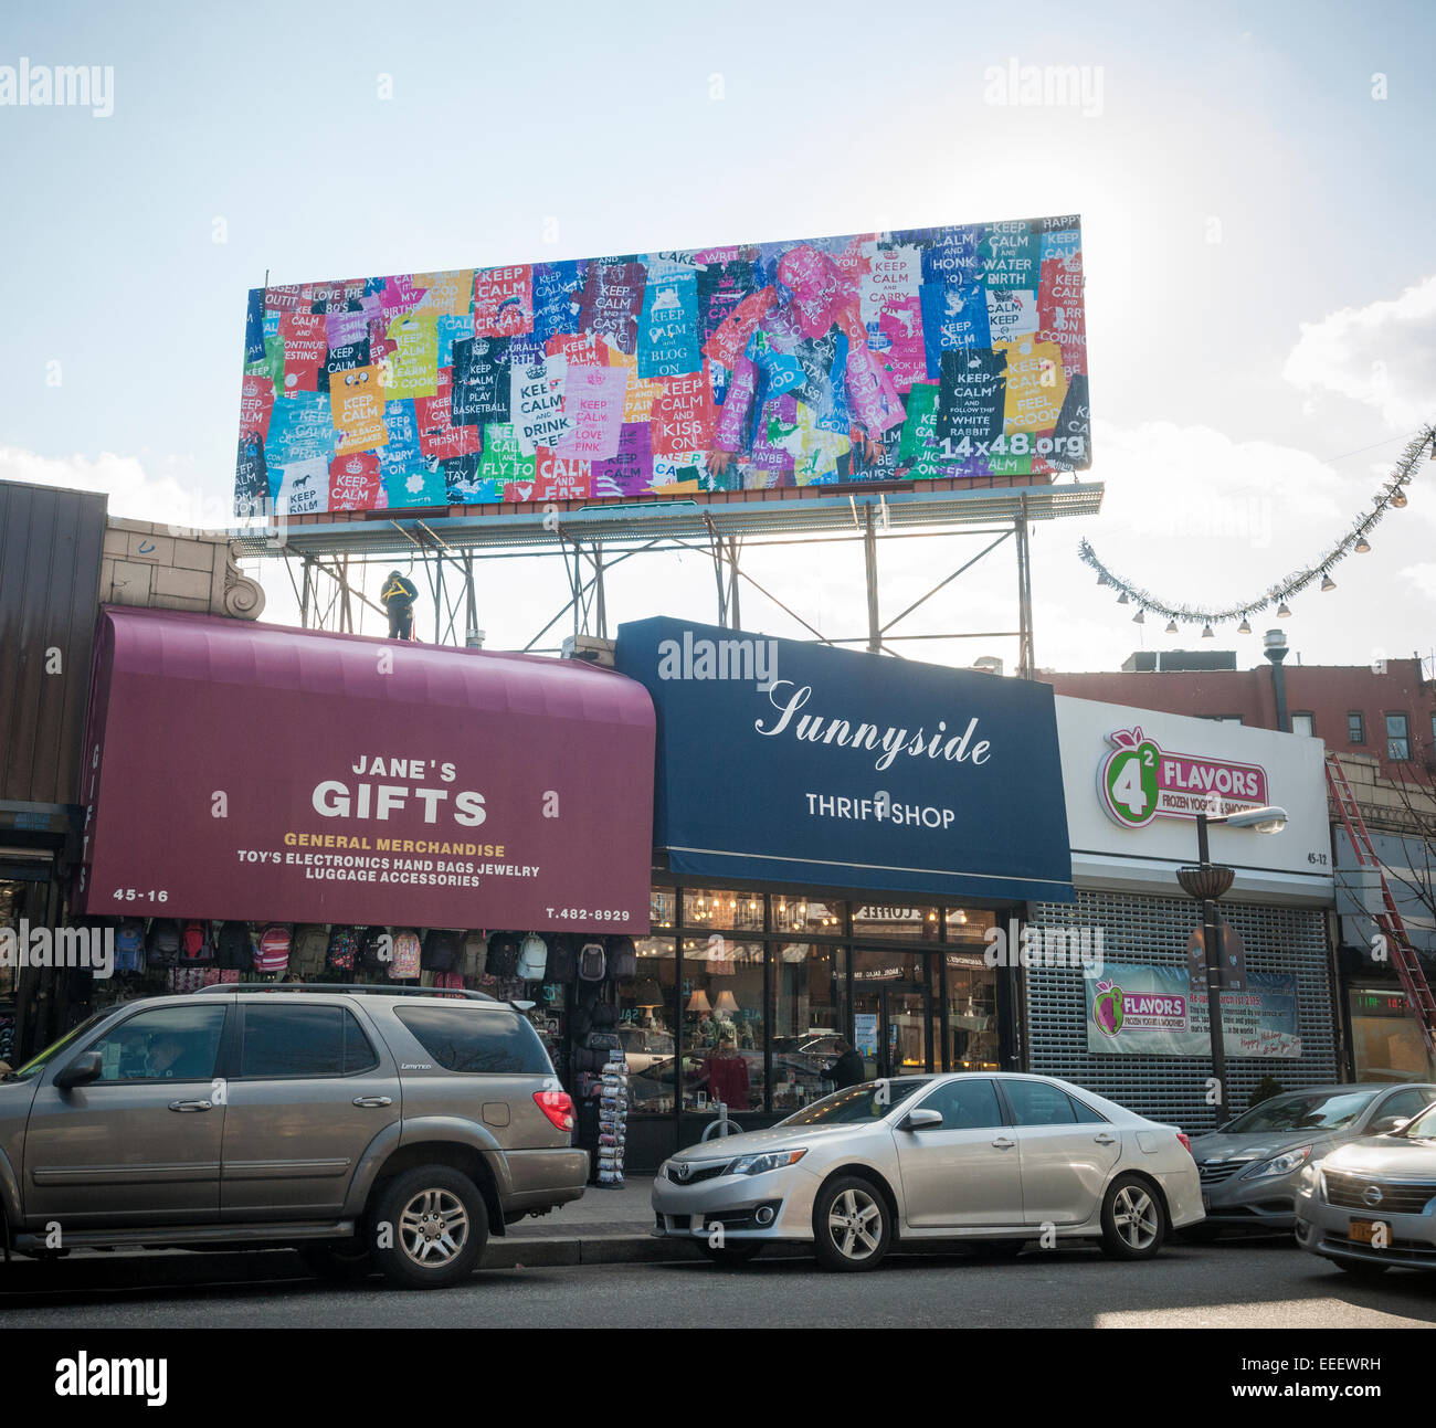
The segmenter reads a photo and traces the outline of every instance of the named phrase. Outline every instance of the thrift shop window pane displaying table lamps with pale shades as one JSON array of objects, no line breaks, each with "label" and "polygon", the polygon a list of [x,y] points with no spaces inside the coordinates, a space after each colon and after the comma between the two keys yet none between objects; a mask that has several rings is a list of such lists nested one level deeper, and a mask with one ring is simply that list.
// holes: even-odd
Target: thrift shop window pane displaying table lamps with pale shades
[{"label": "thrift shop window pane displaying table lamps with pale shades", "polygon": [[764,1102],[761,943],[722,933],[684,940],[682,1105],[761,1111]]}]

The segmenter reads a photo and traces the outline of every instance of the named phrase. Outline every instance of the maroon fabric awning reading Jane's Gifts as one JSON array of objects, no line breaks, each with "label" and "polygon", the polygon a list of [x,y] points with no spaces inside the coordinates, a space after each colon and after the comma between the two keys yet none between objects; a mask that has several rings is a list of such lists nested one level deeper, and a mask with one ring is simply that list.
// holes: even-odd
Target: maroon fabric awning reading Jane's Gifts
[{"label": "maroon fabric awning reading Jane's Gifts", "polygon": [[78,906],[642,934],[653,708],[576,660],[106,606]]}]

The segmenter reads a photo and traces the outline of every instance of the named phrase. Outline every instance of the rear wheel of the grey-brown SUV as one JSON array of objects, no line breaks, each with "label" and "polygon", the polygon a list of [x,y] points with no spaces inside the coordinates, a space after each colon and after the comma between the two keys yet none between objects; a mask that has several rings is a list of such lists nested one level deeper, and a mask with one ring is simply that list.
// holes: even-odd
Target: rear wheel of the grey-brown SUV
[{"label": "rear wheel of the grey-brown SUV", "polygon": [[448,1165],[419,1165],[389,1181],[375,1206],[373,1262],[404,1289],[447,1289],[467,1279],[488,1243],[488,1210],[468,1175]]}]

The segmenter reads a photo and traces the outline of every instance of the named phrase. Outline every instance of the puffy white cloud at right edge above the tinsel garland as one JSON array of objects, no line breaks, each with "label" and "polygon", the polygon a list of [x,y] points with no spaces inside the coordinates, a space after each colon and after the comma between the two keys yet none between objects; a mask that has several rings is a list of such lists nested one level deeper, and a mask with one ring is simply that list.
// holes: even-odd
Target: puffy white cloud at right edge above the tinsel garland
[{"label": "puffy white cloud at right edge above the tinsel garland", "polygon": [[1436,415],[1436,276],[1397,299],[1343,307],[1302,323],[1282,376],[1308,392],[1335,392],[1380,408],[1393,426]]}]

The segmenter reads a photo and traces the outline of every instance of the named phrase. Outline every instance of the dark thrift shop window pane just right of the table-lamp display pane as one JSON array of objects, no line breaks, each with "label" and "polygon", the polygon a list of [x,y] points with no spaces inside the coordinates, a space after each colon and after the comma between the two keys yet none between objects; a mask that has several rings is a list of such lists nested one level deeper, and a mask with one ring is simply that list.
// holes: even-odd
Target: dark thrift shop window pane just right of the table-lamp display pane
[{"label": "dark thrift shop window pane just right of the table-lamp display pane", "polygon": [[843,950],[778,943],[773,950],[773,1109],[796,1111],[831,1084],[843,1039]]}]

